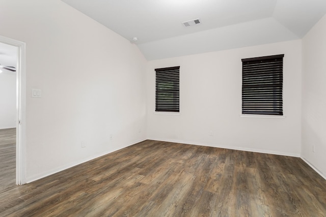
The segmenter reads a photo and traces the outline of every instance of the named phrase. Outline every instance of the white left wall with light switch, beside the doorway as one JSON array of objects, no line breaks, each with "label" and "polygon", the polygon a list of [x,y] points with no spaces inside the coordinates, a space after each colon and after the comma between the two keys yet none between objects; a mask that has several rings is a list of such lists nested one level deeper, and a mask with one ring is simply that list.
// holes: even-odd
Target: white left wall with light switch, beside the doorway
[{"label": "white left wall with light switch, beside the doorway", "polygon": [[137,46],[59,0],[2,0],[0,20],[26,43],[28,181],[146,139]]}]

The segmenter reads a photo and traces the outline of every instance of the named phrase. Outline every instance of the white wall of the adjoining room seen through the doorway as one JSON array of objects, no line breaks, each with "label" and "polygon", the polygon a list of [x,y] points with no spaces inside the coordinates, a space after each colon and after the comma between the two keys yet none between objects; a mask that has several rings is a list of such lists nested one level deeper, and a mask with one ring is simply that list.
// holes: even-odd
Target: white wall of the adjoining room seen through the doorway
[{"label": "white wall of the adjoining room seen through the doorway", "polygon": [[0,73],[0,129],[16,127],[16,73]]}]

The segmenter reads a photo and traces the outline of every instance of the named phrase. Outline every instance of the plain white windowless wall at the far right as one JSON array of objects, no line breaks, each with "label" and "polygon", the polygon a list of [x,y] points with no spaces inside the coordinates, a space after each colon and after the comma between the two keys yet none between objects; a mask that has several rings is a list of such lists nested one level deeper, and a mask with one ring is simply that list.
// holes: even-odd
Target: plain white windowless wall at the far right
[{"label": "plain white windowless wall at the far right", "polygon": [[302,40],[302,158],[326,177],[326,16]]}]

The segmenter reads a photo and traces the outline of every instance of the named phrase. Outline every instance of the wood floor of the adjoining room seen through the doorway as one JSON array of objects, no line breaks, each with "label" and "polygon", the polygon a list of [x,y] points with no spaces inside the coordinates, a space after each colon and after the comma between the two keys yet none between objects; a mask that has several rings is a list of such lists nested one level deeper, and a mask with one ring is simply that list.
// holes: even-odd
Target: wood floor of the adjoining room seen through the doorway
[{"label": "wood floor of the adjoining room seen through the doorway", "polygon": [[16,128],[0,129],[0,192],[16,186]]}]

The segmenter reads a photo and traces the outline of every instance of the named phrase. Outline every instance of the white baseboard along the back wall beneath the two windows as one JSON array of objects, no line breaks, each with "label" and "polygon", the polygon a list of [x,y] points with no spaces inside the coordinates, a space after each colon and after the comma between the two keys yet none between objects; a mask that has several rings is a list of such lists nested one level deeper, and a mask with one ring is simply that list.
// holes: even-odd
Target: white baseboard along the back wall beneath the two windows
[{"label": "white baseboard along the back wall beneath the two windows", "polygon": [[189,145],[202,145],[202,146],[209,146],[209,147],[216,147],[216,148],[227,148],[227,149],[232,149],[232,150],[252,151],[252,152],[258,152],[258,153],[269,153],[269,154],[277,154],[277,155],[281,155],[281,156],[300,158],[300,153],[290,153],[290,152],[255,149],[255,148],[244,148],[244,147],[229,146],[229,145],[215,145],[215,144],[191,142],[191,141],[181,141],[181,140],[173,140],[173,139],[172,140],[171,139],[168,139],[168,140],[167,139],[158,139],[158,138],[147,138],[147,139],[164,141],[164,142],[183,143],[183,144],[189,144]]}]

